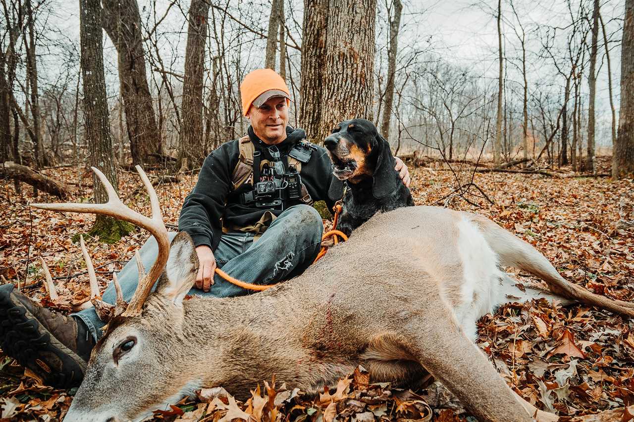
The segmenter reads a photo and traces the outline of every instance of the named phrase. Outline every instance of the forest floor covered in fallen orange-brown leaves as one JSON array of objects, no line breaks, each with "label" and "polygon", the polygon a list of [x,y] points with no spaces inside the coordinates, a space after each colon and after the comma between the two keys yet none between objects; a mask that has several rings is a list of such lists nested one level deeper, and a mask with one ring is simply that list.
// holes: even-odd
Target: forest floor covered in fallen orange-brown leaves
[{"label": "forest floor covered in fallen orange-brown leaves", "polygon": [[[599,172],[607,172],[609,157],[598,162]],[[472,169],[460,164],[451,169],[447,165],[410,168],[417,205],[484,214],[536,246],[568,280],[596,293],[634,301],[633,180],[575,177],[570,169],[548,170],[557,177],[474,174]],[[92,195],[92,177],[84,168],[44,173],[72,184],[71,200],[86,201]],[[183,176],[178,184],[157,188],[167,224],[177,224],[183,199],[195,181],[196,176]],[[135,174],[120,172],[124,202],[149,215],[149,201],[139,186]],[[459,186],[462,189],[455,191]],[[58,200],[43,194],[34,198],[25,184],[18,194],[12,181],[0,181],[2,282],[19,284],[25,294],[48,303],[42,258],[56,278],[61,301],[84,302],[89,296],[84,260],[71,238],[86,233],[94,217],[30,208],[29,203],[36,201]],[[136,231],[114,245],[87,240],[101,291],[110,283],[112,272],[131,259],[147,237],[145,231]],[[519,281],[534,281],[527,274],[515,274]],[[479,335],[479,347],[509,385],[540,409],[557,412],[564,420],[626,421],[634,413],[634,406],[630,413],[623,410],[634,404],[634,321],[583,305],[562,307],[540,300],[508,304],[482,318]],[[330,422],[337,415],[337,420],[356,421],[454,421],[467,415],[437,384],[416,392],[368,385],[361,368],[340,381],[336,391],[319,397],[305,397],[292,385],[268,381],[246,403],[236,402],[219,388],[203,390],[200,400],[183,400],[157,418],[217,421],[251,416],[267,421],[272,416]],[[61,419],[74,392],[39,385],[0,352],[0,421]],[[594,419],[581,417],[597,412],[602,413]]]}]

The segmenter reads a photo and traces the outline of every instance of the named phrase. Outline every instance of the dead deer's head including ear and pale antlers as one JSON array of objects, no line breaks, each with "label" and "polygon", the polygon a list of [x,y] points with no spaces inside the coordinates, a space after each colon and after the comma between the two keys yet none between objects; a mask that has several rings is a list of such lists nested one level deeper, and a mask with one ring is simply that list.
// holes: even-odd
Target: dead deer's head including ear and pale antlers
[{"label": "dead deer's head including ear and pale antlers", "polygon": [[[179,233],[169,244],[157,195],[140,167],[137,166],[137,170],[152,203],[151,219],[127,208],[103,173],[93,170],[108,192],[107,203],[32,205],[48,210],[108,215],[132,222],[148,229],[157,239],[159,256],[147,275],[140,260],[137,261],[139,285],[129,304],[123,301],[119,291],[114,306],[101,302],[98,291],[91,293],[98,315],[108,324],[93,348],[84,381],[65,420],[141,420],[153,410],[177,402],[183,395],[200,388],[184,376],[182,380],[175,380],[173,371],[174,362],[183,362],[181,355],[193,352],[187,340],[189,328],[184,324],[183,299],[195,280],[198,257],[187,233]],[[91,273],[91,285],[96,286],[96,279],[92,282],[94,271],[90,271],[90,257],[83,241],[81,244]],[[151,293],[155,282],[156,290]],[[122,394],[122,390],[126,393]]]}]

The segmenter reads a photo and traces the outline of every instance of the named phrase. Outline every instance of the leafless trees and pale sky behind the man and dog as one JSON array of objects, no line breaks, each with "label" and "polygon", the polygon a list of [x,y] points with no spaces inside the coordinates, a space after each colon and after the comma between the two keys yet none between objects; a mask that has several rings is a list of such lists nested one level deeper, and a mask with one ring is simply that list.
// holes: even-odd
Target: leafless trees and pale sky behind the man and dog
[{"label": "leafless trees and pale sky behind the man and dog", "polygon": [[238,86],[266,66],[314,142],[363,116],[398,155],[593,172],[621,138],[615,175],[632,170],[631,0],[80,5],[2,0],[0,162],[82,163],[93,142],[112,151],[100,155],[111,174],[195,169],[245,132]]}]

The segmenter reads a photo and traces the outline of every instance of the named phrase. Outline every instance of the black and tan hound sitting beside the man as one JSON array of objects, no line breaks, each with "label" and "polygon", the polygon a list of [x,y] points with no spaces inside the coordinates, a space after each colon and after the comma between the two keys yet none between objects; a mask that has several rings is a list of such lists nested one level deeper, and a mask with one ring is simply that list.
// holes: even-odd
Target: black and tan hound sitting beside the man
[{"label": "black and tan hound sitting beside the man", "polygon": [[333,174],[347,184],[337,229],[349,235],[377,212],[411,207],[414,200],[398,172],[390,145],[369,120],[354,118],[323,141]]}]

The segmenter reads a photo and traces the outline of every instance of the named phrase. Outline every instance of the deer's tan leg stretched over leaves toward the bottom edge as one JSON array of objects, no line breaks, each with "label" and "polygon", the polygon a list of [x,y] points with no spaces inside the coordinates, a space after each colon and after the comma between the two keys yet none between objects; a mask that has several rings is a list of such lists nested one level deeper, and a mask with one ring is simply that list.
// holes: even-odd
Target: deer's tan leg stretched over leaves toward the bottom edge
[{"label": "deer's tan leg stretched over leaves toward the bottom edge", "polygon": [[428,304],[424,314],[412,318],[406,327],[403,344],[408,353],[483,421],[529,422],[534,416],[539,418],[534,407],[522,403],[484,353],[458,328],[450,310],[443,305],[435,308],[431,315]]}]

